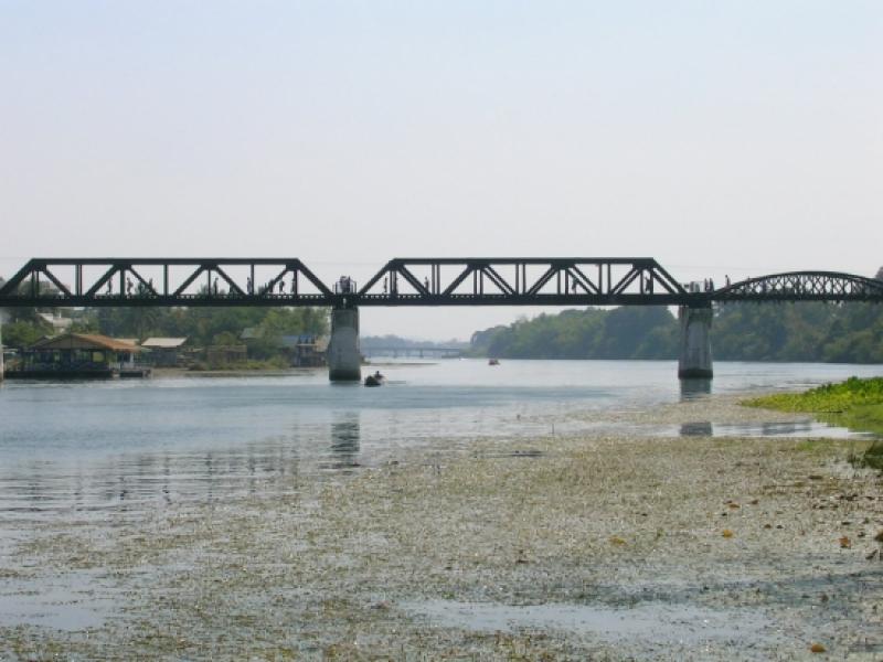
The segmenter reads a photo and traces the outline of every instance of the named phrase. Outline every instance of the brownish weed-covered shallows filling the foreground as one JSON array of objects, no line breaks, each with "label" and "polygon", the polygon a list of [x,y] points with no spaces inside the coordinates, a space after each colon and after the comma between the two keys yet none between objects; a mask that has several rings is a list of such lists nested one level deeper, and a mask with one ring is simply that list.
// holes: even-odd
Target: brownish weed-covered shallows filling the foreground
[{"label": "brownish weed-covered shallows filling the foreground", "polygon": [[[715,396],[600,423],[794,419]],[[97,618],[0,621],[0,660],[881,660],[862,444],[482,439],[223,505],[71,513],[18,535],[0,595],[62,587]]]}]

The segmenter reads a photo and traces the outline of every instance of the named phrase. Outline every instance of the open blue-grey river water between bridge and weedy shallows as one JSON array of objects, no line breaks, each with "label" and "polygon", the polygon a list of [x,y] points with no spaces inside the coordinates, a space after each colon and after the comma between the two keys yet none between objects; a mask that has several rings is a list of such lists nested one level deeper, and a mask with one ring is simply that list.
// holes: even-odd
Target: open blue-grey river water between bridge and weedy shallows
[{"label": "open blue-grey river water between bridge and weedy shallows", "polygon": [[[372,369],[373,370],[373,369]],[[578,431],[575,410],[640,410],[705,393],[804,388],[881,365],[715,364],[681,384],[673,362],[479,360],[384,364],[387,384],[330,384],[325,371],[158,376],[0,387],[0,533],[71,511],[260,493],[280,476],[345,473],[419,445]],[[582,419],[583,421],[585,418]],[[650,434],[833,434],[823,426]],[[274,479],[274,480],[268,480]],[[0,536],[1,537],[1,536]]]}]

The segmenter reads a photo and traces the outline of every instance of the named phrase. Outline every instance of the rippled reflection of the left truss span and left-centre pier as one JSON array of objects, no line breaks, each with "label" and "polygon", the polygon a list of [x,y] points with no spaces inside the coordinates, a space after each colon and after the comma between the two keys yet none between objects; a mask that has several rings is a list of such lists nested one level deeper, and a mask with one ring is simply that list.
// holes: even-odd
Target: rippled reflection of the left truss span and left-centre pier
[{"label": "rippled reflection of the left truss span and left-centre pier", "polygon": [[308,478],[361,467],[360,437],[359,413],[342,412],[325,426],[210,451],[151,448],[94,463],[7,466],[0,472],[0,513],[10,522],[39,522],[71,510],[100,516],[151,503],[224,503],[232,495],[266,495],[270,487],[274,496],[297,496]]}]

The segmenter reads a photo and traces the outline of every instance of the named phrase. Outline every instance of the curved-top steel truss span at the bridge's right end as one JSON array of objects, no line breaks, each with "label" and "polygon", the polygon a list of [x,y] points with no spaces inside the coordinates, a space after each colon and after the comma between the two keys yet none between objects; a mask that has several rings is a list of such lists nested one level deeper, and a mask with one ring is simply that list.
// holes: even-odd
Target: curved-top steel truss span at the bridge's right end
[{"label": "curved-top steel truss span at the bridge's right end", "polygon": [[714,301],[881,301],[883,281],[838,271],[789,271],[749,278],[712,292]]}]

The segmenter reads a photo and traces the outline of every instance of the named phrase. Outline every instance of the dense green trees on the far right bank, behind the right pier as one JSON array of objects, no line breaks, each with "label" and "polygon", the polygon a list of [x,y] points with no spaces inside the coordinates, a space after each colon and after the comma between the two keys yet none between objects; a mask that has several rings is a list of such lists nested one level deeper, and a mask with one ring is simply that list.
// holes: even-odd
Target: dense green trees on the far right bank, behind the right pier
[{"label": "dense green trees on the far right bank, behind the right pier", "polygon": [[[715,309],[712,352],[722,361],[883,363],[883,306],[727,303]],[[567,310],[472,334],[470,352],[509,359],[677,359],[668,308]]]}]

